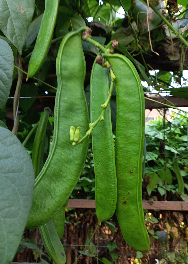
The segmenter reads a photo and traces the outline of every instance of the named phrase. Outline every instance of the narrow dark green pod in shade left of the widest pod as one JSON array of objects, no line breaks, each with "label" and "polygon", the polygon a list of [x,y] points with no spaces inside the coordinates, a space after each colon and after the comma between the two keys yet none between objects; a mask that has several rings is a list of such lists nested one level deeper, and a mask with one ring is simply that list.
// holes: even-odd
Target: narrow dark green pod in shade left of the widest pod
[{"label": "narrow dark green pod in shade left of the widest pod", "polygon": [[46,126],[48,123],[49,114],[48,114],[48,111],[46,111],[48,109],[49,109],[48,107],[45,107],[43,113],[41,114],[40,121],[38,124],[34,142],[33,142],[32,163],[33,163],[33,168],[35,172],[35,179],[40,172],[40,161],[41,161],[41,158],[43,158],[42,144],[43,144],[44,136],[46,133]]}]

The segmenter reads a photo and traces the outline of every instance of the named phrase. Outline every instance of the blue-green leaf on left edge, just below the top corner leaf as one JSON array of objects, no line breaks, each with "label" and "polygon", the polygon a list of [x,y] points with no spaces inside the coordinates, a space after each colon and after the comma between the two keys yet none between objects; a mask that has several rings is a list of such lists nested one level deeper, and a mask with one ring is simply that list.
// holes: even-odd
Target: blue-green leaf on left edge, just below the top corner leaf
[{"label": "blue-green leaf on left edge, just below the top corner leaf", "polygon": [[12,85],[14,71],[14,56],[11,47],[6,41],[0,39],[0,109],[5,111]]}]

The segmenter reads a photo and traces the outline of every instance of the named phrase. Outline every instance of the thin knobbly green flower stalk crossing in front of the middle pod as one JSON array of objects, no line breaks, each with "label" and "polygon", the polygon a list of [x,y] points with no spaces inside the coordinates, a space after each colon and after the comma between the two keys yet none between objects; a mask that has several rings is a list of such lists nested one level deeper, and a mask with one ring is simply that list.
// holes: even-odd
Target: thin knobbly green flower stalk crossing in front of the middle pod
[{"label": "thin knobbly green flower stalk crossing in front of the middle pod", "polygon": [[[112,70],[110,70],[110,74],[113,73]],[[112,96],[112,92],[113,92],[113,86],[114,86],[114,82],[113,80],[111,79],[111,83],[110,83],[110,89],[109,89],[109,92],[108,92],[108,98],[107,100],[105,101],[104,104],[101,104],[101,108],[102,108],[102,112],[100,114],[100,116],[98,117],[98,119],[96,119],[93,123],[90,123],[89,126],[90,126],[90,129],[85,133],[85,135],[83,136],[83,138],[81,138],[77,143],[76,142],[73,142],[73,146],[75,145],[78,145],[80,143],[82,143],[85,138],[87,138],[88,136],[90,136],[91,134],[91,131],[93,130],[93,128],[100,122],[100,121],[103,121],[104,120],[104,114],[105,114],[105,110],[110,102],[110,99],[111,99],[111,96]]]}]

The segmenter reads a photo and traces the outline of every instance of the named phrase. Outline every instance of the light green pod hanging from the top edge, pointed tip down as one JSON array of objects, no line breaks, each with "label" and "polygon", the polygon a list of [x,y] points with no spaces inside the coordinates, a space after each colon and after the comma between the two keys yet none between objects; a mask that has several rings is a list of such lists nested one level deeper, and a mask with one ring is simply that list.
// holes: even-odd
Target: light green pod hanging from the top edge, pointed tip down
[{"label": "light green pod hanging from the top edge, pointed tip down", "polygon": [[53,37],[53,30],[56,25],[58,6],[59,0],[45,1],[45,10],[41,26],[38,32],[35,47],[29,60],[27,79],[28,77],[33,77],[37,74],[48,53]]}]

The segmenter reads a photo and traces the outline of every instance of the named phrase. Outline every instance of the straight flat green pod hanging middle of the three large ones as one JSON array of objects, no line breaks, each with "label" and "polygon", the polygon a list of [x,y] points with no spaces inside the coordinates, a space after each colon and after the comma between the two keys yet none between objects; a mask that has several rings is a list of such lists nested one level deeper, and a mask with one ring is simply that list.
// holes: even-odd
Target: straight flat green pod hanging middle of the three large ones
[{"label": "straight flat green pod hanging middle of the three large ones", "polygon": [[[108,97],[109,73],[107,68],[94,62],[90,79],[90,119],[94,122],[101,113],[101,104]],[[115,153],[110,114],[110,103],[92,131],[92,149],[95,168],[95,204],[99,222],[110,219],[117,202]]]}]

